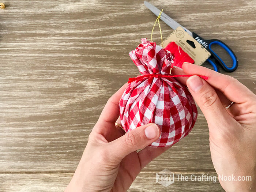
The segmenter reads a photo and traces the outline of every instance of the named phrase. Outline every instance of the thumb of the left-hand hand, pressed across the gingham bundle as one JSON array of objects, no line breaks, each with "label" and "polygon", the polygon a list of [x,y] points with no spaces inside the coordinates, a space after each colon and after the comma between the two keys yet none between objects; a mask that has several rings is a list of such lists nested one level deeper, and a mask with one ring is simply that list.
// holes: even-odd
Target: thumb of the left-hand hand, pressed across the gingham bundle
[{"label": "thumb of the left-hand hand, pressed across the gingham bundle", "polygon": [[117,161],[121,161],[128,154],[142,149],[153,143],[160,137],[160,129],[154,124],[150,123],[133,129],[120,138],[109,143],[111,153]]}]

